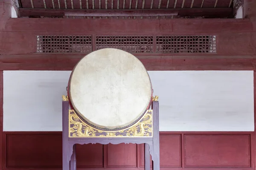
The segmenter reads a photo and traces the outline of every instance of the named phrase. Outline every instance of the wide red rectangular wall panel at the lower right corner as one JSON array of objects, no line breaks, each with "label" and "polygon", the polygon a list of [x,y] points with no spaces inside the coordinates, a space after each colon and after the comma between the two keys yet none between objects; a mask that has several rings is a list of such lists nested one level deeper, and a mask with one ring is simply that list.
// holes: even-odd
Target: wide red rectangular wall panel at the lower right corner
[{"label": "wide red rectangular wall panel at the lower right corner", "polygon": [[250,167],[250,135],[184,135],[185,167]]}]

